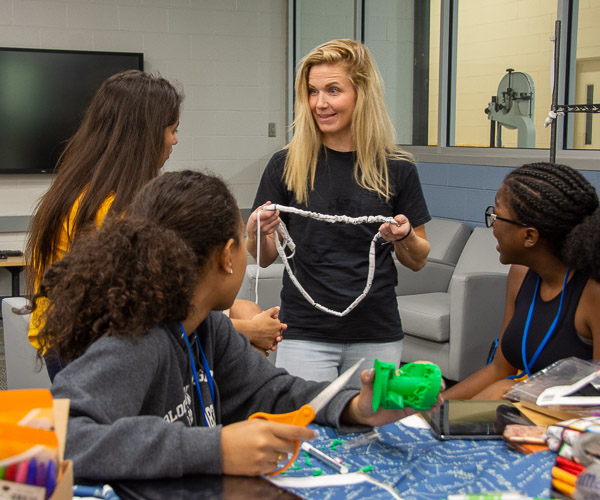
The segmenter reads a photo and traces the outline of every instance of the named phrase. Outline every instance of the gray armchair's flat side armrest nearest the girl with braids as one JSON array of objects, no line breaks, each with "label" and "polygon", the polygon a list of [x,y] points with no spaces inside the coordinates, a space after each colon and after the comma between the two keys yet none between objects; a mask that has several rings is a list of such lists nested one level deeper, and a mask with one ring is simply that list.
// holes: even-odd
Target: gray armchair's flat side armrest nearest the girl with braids
[{"label": "gray armchair's flat side armrest nearest the girl with braids", "polygon": [[457,273],[450,283],[451,380],[485,366],[491,342],[500,335],[506,302],[503,273]]}]

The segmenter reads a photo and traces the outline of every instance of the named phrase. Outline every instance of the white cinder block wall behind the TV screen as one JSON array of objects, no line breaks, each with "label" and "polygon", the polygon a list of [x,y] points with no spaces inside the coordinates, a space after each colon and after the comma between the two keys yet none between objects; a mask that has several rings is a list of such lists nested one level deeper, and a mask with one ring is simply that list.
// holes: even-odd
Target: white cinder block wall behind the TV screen
[{"label": "white cinder block wall behind the TV screen", "polygon": [[[285,145],[286,0],[0,0],[0,46],[143,52],[145,70],[186,95],[165,169],[220,174],[242,208]],[[0,175],[0,217],[31,215],[50,181]],[[0,233],[0,249],[24,240]],[[10,274],[0,271],[0,295],[9,294]]]}]

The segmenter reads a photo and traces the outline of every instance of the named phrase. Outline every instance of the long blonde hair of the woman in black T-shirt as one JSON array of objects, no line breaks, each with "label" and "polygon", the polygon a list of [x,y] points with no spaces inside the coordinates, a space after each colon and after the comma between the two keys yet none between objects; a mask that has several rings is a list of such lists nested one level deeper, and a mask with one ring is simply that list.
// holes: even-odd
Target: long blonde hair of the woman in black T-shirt
[{"label": "long blonde hair of the woman in black T-shirt", "polygon": [[354,178],[359,186],[385,199],[390,192],[388,158],[413,161],[396,144],[394,125],[385,108],[383,84],[371,53],[356,40],[340,39],[323,43],[299,63],[294,103],[294,136],[287,146],[284,181],[301,203],[308,201],[314,188],[315,172],[323,138],[308,104],[308,76],[313,66],[343,64],[356,91],[352,114],[352,139],[356,147]]}]

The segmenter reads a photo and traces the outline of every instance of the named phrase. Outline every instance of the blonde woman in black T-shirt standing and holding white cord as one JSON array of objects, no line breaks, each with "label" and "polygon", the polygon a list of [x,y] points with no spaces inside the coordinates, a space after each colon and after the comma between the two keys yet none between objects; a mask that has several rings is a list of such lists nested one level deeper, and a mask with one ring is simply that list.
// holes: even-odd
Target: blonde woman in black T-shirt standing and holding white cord
[{"label": "blonde woman in black T-shirt standing and holding white cord", "polygon": [[[280,211],[260,214],[260,262],[277,257],[273,233],[280,220],[296,243],[295,275],[313,299],[343,311],[363,291],[369,246],[379,231],[376,271],[365,298],[339,317],[314,308],[287,273],[281,321],[287,323],[277,365],[311,380],[333,380],[354,361],[398,364],[402,325],[394,287],[392,250],[412,270],[427,260],[424,224],[430,220],[417,169],[395,144],[382,82],[368,49],[332,40],[300,62],[295,83],[294,137],[273,155],[261,179],[247,225],[257,257],[257,212],[275,203],[322,214],[393,217],[396,224],[328,224]],[[385,240],[385,241],[383,241]],[[388,244],[389,243],[389,244]]]}]

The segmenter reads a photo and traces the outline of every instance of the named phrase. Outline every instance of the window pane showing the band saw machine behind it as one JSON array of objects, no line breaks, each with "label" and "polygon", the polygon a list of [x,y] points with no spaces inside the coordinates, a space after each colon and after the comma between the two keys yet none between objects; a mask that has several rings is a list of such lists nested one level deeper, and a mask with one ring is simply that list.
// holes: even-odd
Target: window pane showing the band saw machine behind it
[{"label": "window pane showing the band saw machine behind it", "polygon": [[556,3],[460,0],[452,146],[548,148]]}]

